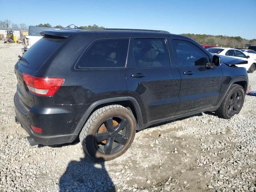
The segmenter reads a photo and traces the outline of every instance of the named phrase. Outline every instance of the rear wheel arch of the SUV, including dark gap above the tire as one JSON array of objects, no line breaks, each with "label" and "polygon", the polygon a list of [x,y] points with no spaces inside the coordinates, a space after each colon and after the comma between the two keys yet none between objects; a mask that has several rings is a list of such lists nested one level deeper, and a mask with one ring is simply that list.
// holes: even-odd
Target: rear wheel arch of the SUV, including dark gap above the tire
[{"label": "rear wheel arch of the SUV, including dark gap above the tire", "polygon": [[114,98],[106,98],[102,100],[98,100],[94,103],[92,103],[86,112],[83,114],[82,118],[78,122],[78,125],[76,126],[76,129],[74,130],[74,134],[78,135],[80,131],[82,130],[85,122],[88,120],[90,115],[97,109],[106,106],[106,105],[112,105],[112,104],[119,104],[126,108],[128,108],[133,114],[137,121],[137,130],[140,130],[140,127],[143,124],[142,121],[142,114],[140,110],[140,106],[135,98],[133,97],[114,97]]}]

